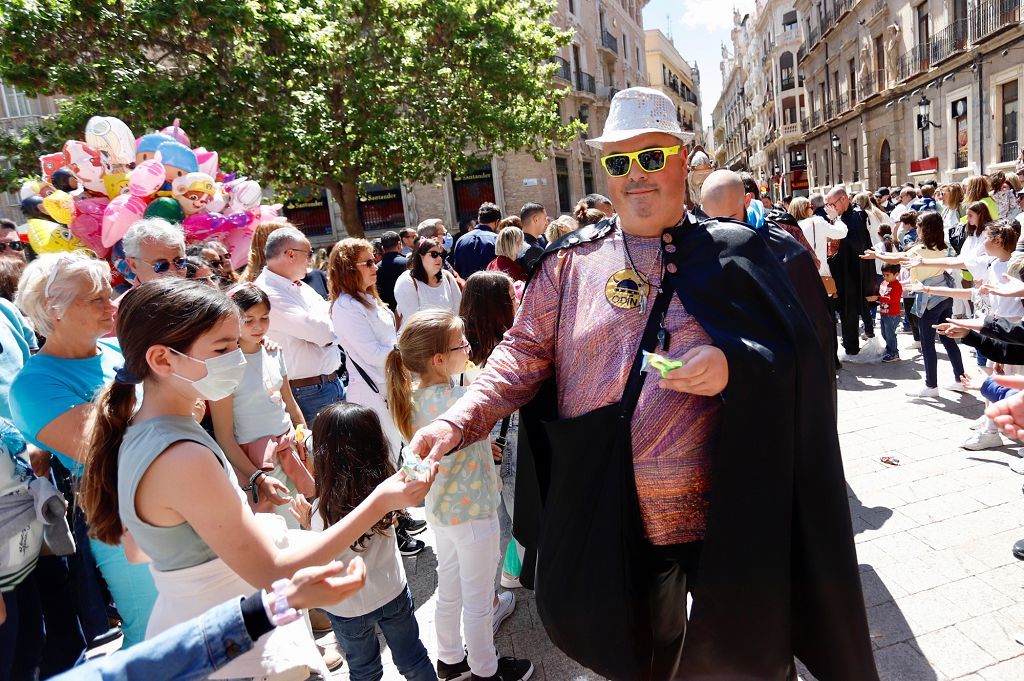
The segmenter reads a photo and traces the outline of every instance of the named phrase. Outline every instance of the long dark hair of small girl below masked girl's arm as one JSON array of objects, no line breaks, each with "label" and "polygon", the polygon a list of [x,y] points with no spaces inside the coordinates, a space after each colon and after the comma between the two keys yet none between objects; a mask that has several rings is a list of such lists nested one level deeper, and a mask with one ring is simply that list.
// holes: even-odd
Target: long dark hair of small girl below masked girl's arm
[{"label": "long dark hair of small girl below masked girl's arm", "polygon": [[[390,449],[380,419],[372,409],[353,402],[335,402],[313,420],[313,470],[316,471],[317,511],[324,525],[341,520],[394,475]],[[391,511],[352,544],[366,550],[374,535],[384,536],[398,517]]]}]

